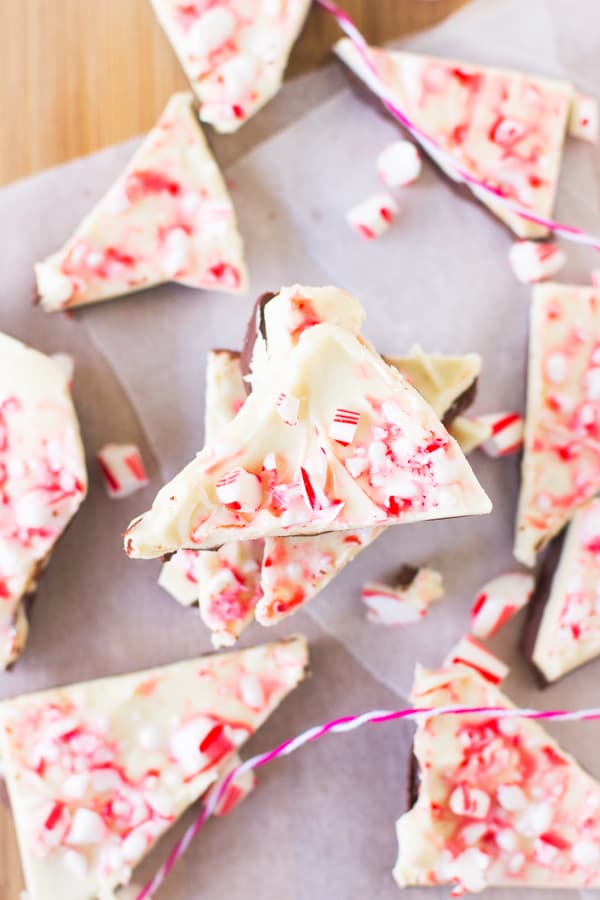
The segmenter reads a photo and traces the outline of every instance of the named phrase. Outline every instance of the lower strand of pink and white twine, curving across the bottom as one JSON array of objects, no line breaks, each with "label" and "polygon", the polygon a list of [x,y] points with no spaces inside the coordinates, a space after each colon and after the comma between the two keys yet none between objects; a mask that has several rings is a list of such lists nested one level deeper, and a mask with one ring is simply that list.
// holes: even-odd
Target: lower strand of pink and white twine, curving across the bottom
[{"label": "lower strand of pink and white twine, curving across the bottom", "polygon": [[190,825],[180,841],[175,844],[166,861],[160,867],[154,878],[139,892],[136,900],[148,900],[152,894],[159,889],[165,878],[171,872],[173,866],[183,856],[188,849],[194,837],[198,834],[204,823],[209,819],[215,811],[223,795],[229,788],[230,784],[240,775],[250,771],[250,769],[260,769],[267,763],[280,756],[289,756],[304,744],[316,741],[326,734],[344,734],[348,731],[354,731],[363,725],[376,724],[379,722],[393,722],[397,719],[419,719],[429,718],[431,716],[463,716],[463,715],[492,715],[495,718],[520,718],[520,719],[545,719],[553,722],[587,722],[600,719],[600,707],[592,707],[590,709],[579,709],[574,711],[564,709],[539,710],[539,709],[518,709],[506,706],[437,706],[437,707],[413,707],[409,709],[376,709],[371,712],[362,713],[358,716],[342,716],[338,719],[332,719],[324,725],[316,725],[313,728],[303,731],[302,734],[284,741],[273,750],[266,753],[258,753],[245,760],[223,779],[217,790],[213,791],[206,802],[202,806],[202,810],[196,821]]}]

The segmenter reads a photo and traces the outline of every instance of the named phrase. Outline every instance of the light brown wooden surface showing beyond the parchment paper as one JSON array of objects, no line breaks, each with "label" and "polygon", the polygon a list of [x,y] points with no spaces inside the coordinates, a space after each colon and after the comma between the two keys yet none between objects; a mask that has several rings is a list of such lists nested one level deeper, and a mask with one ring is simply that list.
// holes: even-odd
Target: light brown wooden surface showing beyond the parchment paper
[{"label": "light brown wooden surface showing beyond the parchment paper", "polygon": [[[340,0],[373,43],[432,25],[464,2]],[[313,9],[289,75],[326,62],[337,36]],[[145,131],[185,86],[147,0],[0,0],[0,59],[0,184]],[[0,900],[18,900],[22,886],[0,803]]]}]

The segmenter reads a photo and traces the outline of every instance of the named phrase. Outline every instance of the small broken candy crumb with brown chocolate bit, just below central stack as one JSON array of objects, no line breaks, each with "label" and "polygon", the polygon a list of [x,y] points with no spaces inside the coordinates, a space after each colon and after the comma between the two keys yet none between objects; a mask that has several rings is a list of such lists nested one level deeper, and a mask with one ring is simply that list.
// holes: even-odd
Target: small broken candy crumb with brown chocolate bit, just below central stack
[{"label": "small broken candy crumb with brown chocolate bit, just below central stack", "polygon": [[431,603],[444,596],[442,576],[433,569],[419,569],[405,587],[391,588],[370,581],[362,589],[367,619],[376,625],[411,625],[427,615]]}]

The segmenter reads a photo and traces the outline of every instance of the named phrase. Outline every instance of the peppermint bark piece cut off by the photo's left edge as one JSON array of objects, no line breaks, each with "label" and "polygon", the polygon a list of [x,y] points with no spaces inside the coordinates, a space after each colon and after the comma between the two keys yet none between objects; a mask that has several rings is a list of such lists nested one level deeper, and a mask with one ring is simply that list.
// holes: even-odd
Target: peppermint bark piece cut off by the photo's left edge
[{"label": "peppermint bark piece cut off by the photo's left edge", "polygon": [[22,601],[87,490],[69,381],[59,363],[0,333],[0,669],[27,639]]}]

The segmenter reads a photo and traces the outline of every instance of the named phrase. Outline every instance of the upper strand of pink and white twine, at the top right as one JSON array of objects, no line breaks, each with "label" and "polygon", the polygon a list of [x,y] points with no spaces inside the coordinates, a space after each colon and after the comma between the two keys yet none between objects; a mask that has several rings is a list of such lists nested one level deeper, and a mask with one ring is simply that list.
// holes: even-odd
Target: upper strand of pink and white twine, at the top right
[{"label": "upper strand of pink and white twine, at the top right", "polygon": [[464,169],[460,165],[460,163],[457,163],[454,157],[447,153],[446,150],[444,150],[442,147],[440,147],[438,142],[430,134],[427,134],[426,131],[423,131],[422,128],[419,128],[418,125],[416,125],[411,119],[409,119],[408,116],[406,116],[402,112],[402,110],[396,106],[389,88],[381,78],[381,75],[379,74],[375,63],[373,62],[371,55],[369,54],[369,45],[367,44],[364,36],[361,34],[348,13],[337,6],[337,4],[332,3],[331,0],[316,0],[316,2],[324,10],[335,17],[342,31],[352,41],[362,61],[369,69],[369,72],[374,76],[375,82],[371,83],[370,86],[378,95],[388,112],[398,122],[400,122],[400,124],[403,125],[404,128],[406,128],[406,130],[414,138],[416,138],[421,144],[423,144],[426,149],[428,148],[434,158],[437,158],[438,160],[443,162],[445,166],[453,171],[457,177],[457,180],[468,184],[472,188],[477,188],[478,190],[490,194],[521,219],[526,219],[528,222],[533,222],[535,225],[541,225],[543,228],[547,228],[550,231],[555,232],[556,234],[560,234],[561,237],[565,238],[565,240],[573,241],[577,244],[587,244],[593,247],[595,250],[600,250],[600,237],[588,234],[581,228],[576,228],[573,225],[564,225],[562,222],[555,222],[553,219],[546,219],[543,216],[538,215],[532,210],[527,209],[526,207],[521,206],[518,203],[515,203],[508,197],[505,197],[500,188],[494,187],[494,185],[492,184],[488,184],[487,181],[483,181],[481,178],[477,178],[477,176],[472,175],[470,172]]}]

